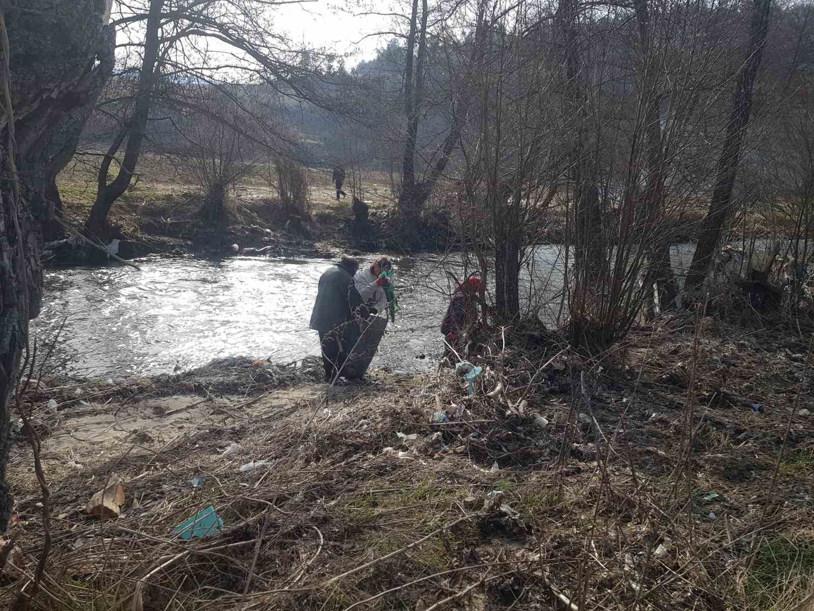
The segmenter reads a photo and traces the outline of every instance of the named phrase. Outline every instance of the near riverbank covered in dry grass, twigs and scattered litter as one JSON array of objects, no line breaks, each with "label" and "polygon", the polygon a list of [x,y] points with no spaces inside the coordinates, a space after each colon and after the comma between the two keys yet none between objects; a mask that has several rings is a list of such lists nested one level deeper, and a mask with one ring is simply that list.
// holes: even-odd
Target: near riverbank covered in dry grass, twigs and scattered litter
[{"label": "near riverbank covered in dry grass, twigs and scattered litter", "polygon": [[[451,370],[326,389],[312,359],[45,380],[39,607],[790,608],[814,573],[811,332],[672,316],[602,360],[508,334],[472,397]],[[9,480],[30,575],[22,442]],[[209,506],[219,533],[173,537]]]}]

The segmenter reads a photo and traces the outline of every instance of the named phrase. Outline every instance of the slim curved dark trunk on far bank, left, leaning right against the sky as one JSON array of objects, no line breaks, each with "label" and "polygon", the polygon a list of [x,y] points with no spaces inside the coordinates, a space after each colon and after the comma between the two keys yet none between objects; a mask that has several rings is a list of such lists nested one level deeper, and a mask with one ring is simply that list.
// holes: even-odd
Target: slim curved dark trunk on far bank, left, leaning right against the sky
[{"label": "slim curved dark trunk on far bank, left, leaning right against the sky", "polygon": [[[155,64],[159,55],[159,26],[163,7],[164,0],[150,0],[150,12],[147,15],[144,41],[144,57],[142,58],[141,71],[138,74],[138,94],[135,108],[133,108],[133,114],[126,124],[116,134],[116,138],[114,138],[111,147],[107,150],[107,155],[102,161],[102,165],[99,167],[96,200],[85,223],[88,229],[97,235],[104,235],[107,232],[107,215],[110,213],[114,202],[127,191],[130,179],[133,178],[133,172],[136,171],[138,156],[141,154],[155,83]],[[110,165],[125,139],[127,140],[125,156],[121,160],[119,172],[113,182],[107,184]]]}]

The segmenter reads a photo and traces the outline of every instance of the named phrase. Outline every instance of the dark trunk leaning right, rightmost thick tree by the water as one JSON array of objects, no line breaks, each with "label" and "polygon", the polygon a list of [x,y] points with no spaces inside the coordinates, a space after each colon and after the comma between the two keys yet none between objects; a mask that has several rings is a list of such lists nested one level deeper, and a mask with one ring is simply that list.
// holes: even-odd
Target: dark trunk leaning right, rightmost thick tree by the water
[{"label": "dark trunk leaning right, rightmost thick tree by the water", "polygon": [[718,175],[707,216],[701,223],[698,246],[689,266],[685,288],[699,288],[707,277],[712,254],[720,242],[724,226],[733,211],[732,189],[741,161],[741,149],[752,108],[752,90],[763,57],[764,42],[772,16],[772,0],[752,0],[749,48],[737,75],[732,96],[732,114],[727,125],[724,148],[718,160]]}]

